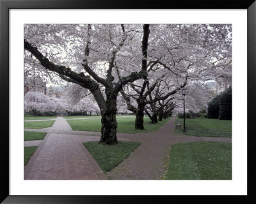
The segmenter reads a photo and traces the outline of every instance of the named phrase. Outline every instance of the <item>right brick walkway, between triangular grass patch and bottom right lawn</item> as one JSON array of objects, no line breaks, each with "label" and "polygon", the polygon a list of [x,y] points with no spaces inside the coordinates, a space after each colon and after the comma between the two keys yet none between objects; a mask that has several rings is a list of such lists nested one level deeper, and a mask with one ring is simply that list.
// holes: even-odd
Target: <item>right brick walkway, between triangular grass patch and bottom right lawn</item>
[{"label": "right brick walkway, between triangular grass patch and bottom right lawn", "polygon": [[170,148],[176,143],[191,141],[231,142],[230,137],[195,137],[174,133],[175,116],[156,132],[122,136],[142,143],[132,154],[108,173],[109,179],[163,179]]}]

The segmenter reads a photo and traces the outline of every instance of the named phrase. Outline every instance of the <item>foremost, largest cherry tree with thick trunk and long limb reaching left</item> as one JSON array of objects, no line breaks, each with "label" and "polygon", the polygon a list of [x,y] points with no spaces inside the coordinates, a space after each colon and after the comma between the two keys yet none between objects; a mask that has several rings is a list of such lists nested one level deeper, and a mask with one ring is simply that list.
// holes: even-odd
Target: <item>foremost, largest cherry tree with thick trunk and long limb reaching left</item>
[{"label": "foremost, largest cherry tree with thick trunk and long limb reaching left", "polygon": [[116,97],[122,86],[147,76],[148,36],[149,25],[27,24],[25,59],[90,90],[102,115],[100,142],[115,144]]}]

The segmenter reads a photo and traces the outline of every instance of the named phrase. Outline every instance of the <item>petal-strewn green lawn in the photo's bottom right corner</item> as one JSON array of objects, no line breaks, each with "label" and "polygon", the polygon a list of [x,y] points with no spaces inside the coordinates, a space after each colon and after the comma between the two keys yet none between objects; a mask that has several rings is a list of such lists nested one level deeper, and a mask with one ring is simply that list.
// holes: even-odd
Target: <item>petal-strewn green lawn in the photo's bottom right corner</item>
[{"label": "petal-strewn green lawn in the photo's bottom right corner", "polygon": [[231,144],[193,142],[173,145],[166,179],[231,180]]}]

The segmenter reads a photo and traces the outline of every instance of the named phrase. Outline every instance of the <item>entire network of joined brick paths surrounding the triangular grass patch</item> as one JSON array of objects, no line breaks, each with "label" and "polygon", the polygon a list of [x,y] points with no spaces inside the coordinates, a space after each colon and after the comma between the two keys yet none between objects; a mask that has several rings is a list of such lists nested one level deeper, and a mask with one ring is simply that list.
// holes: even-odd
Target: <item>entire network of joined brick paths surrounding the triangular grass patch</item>
[{"label": "entire network of joined brick paths surrounding the triangular grass patch", "polygon": [[[116,168],[109,171],[108,179],[162,179],[173,144],[191,141],[232,142],[230,137],[195,137],[175,134],[174,123],[175,116],[156,132],[118,134],[120,141],[138,141],[141,145]],[[56,118],[56,122],[50,128],[25,130],[47,132],[47,136],[25,167],[25,179],[107,178],[92,155],[82,145],[85,141],[99,141],[100,132],[74,131],[62,117]]]}]

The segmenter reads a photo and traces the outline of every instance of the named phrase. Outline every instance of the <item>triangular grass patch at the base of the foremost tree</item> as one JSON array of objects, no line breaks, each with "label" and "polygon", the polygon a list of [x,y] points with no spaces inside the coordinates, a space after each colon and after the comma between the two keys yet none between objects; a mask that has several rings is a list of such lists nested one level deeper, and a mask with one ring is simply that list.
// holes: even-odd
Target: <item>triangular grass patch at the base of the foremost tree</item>
[{"label": "triangular grass patch at the base of the foremost tree", "polygon": [[107,173],[127,158],[135,148],[140,146],[140,143],[118,141],[117,145],[106,145],[100,144],[99,141],[90,141],[83,145],[92,154],[102,171]]}]

